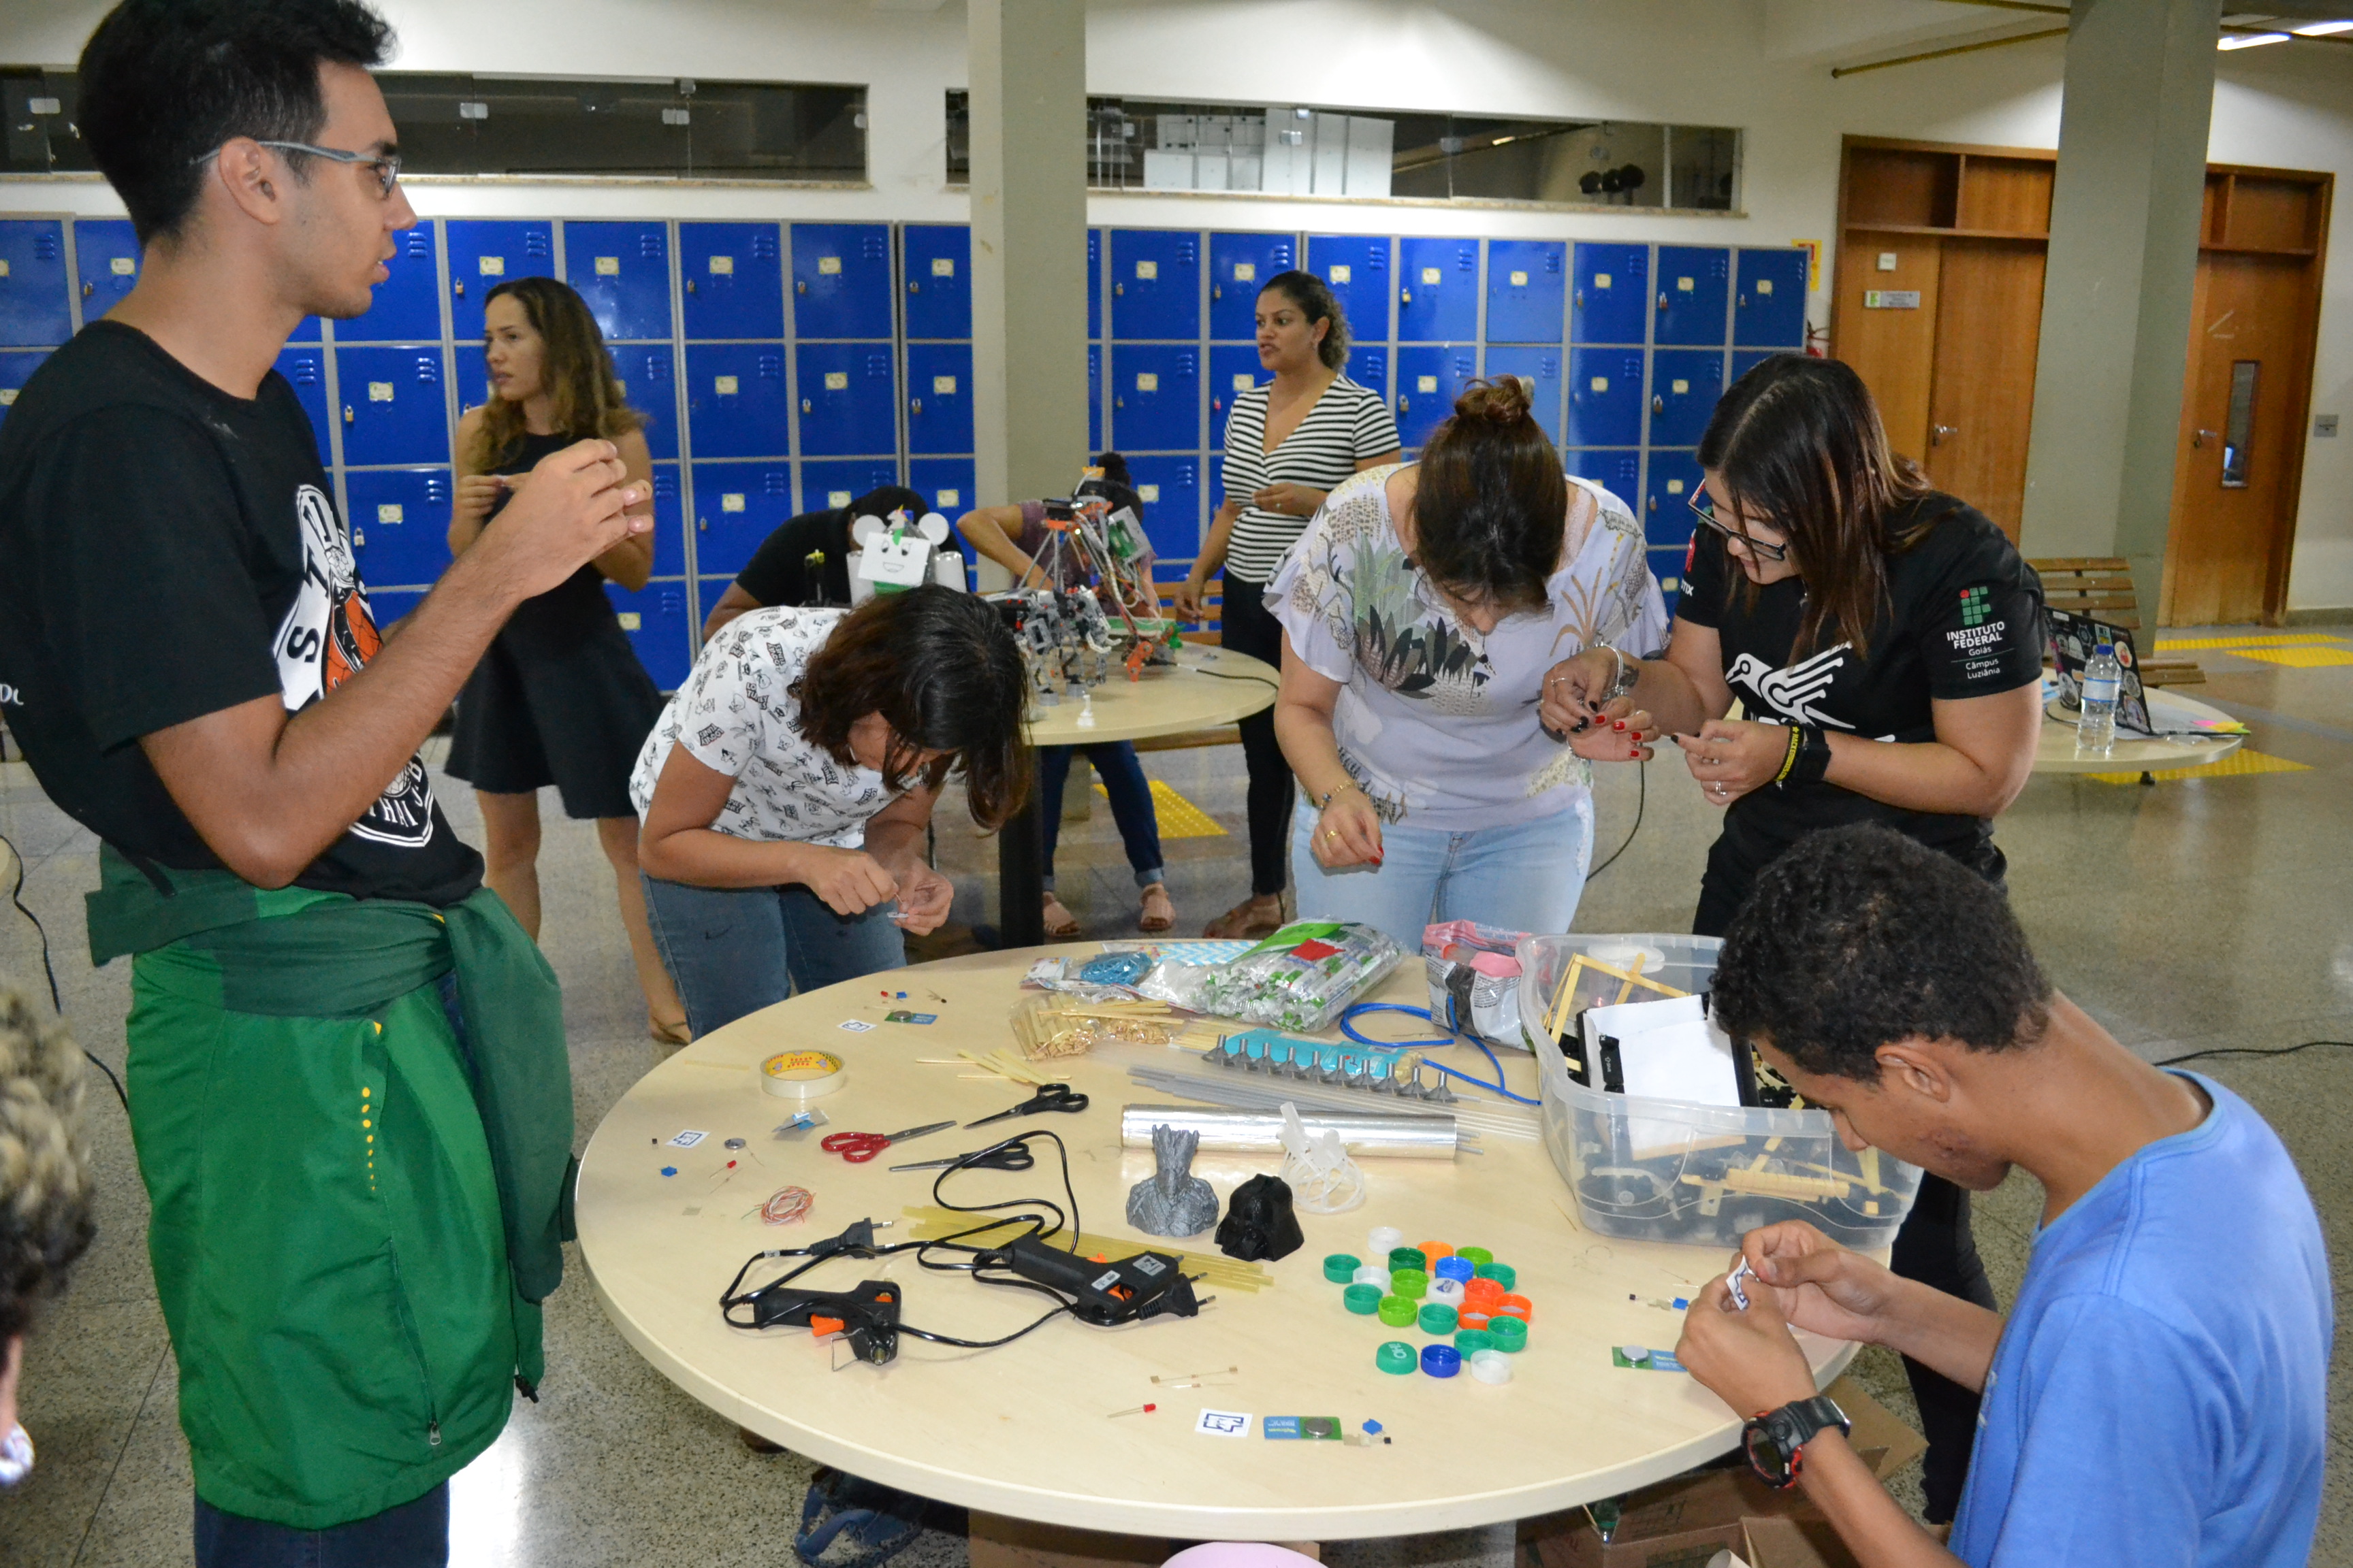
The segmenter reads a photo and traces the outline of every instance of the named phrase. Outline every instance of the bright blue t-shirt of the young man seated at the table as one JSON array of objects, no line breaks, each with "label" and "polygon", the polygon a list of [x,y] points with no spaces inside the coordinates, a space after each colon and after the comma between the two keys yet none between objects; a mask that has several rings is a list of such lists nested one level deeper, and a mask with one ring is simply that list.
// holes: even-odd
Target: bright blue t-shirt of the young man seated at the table
[{"label": "bright blue t-shirt of the young man seated at the table", "polygon": [[2035,1237],[1977,1418],[1953,1554],[1974,1568],[2301,1568],[2334,1314],[2320,1218],[2221,1084],[2195,1128]]}]

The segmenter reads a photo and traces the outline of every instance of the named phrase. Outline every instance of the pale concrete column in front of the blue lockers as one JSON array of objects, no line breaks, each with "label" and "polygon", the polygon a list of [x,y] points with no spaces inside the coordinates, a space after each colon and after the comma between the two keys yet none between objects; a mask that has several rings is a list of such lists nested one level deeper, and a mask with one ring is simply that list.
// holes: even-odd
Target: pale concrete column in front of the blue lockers
[{"label": "pale concrete column in front of the blue lockers", "polygon": [[969,0],[972,421],[984,505],[1087,461],[1087,7]]}]

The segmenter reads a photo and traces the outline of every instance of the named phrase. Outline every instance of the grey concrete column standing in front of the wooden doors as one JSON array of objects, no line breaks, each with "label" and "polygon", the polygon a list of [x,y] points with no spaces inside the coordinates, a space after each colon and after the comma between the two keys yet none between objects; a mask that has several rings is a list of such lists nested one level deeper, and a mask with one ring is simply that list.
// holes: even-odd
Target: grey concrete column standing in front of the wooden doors
[{"label": "grey concrete column standing in front of the wooden doors", "polygon": [[[2155,623],[2221,0],[2075,0],[2026,555],[2122,555]],[[2144,651],[2155,639],[2144,632]]]}]

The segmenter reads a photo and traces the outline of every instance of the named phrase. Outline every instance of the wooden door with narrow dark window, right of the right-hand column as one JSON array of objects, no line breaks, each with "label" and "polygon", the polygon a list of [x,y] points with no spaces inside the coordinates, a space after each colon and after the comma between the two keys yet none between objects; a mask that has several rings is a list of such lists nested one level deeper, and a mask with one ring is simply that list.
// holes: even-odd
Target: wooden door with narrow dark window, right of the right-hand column
[{"label": "wooden door with narrow dark window, right of the right-hand column", "polygon": [[2294,538],[2313,329],[2311,263],[2205,252],[2181,388],[2165,625],[2278,614]]}]

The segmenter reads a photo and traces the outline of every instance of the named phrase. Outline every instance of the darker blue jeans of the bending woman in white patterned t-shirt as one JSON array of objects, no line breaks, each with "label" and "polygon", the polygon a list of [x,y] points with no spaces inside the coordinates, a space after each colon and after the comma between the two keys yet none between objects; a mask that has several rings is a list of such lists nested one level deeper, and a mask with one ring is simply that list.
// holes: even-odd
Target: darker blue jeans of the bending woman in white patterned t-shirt
[{"label": "darker blue jeans of the bending woman in white patterned t-shirt", "polygon": [[696,1039],[795,990],[906,964],[894,905],[840,917],[800,884],[699,889],[645,877],[645,924]]}]

